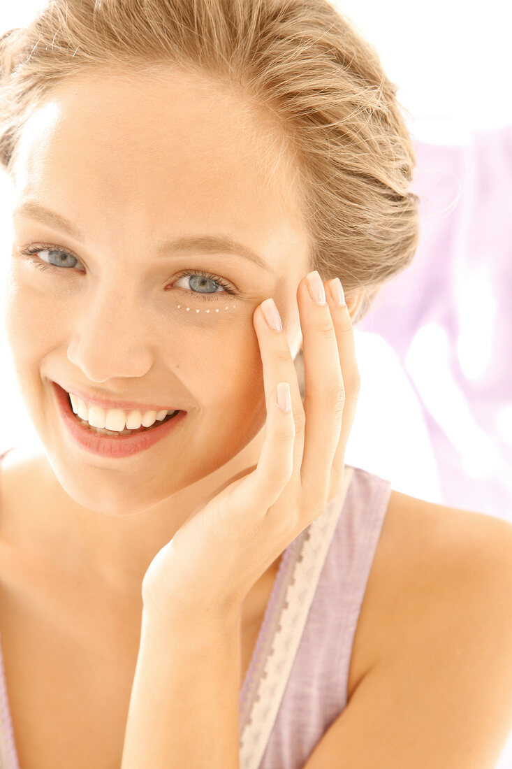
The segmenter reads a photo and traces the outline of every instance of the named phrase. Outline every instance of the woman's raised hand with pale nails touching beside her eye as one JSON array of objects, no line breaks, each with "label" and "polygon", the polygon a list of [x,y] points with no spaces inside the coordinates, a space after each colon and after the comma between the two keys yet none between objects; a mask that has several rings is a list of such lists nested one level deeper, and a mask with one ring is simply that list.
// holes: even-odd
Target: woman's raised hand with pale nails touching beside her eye
[{"label": "woman's raised hand with pale nails touching beside her eye", "polygon": [[[284,331],[264,318],[262,305],[271,302],[255,309],[267,402],[261,456],[158,551],[142,581],[148,617],[204,621],[241,609],[264,571],[340,491],[360,377],[351,317],[326,288],[327,304],[318,305],[308,276],[298,285],[304,404]],[[275,401],[280,382],[290,386],[289,413]]]}]

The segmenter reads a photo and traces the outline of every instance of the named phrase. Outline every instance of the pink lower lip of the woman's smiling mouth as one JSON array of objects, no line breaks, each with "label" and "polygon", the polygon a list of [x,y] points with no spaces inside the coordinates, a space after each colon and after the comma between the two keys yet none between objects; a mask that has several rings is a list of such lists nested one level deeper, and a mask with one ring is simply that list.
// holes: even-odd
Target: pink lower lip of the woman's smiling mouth
[{"label": "pink lower lip of the woman's smiling mouth", "polygon": [[186,411],[180,411],[175,417],[168,419],[163,424],[159,424],[158,427],[132,435],[120,435],[118,438],[110,435],[100,435],[84,427],[81,421],[75,417],[71,409],[68,393],[62,387],[59,387],[56,382],[52,382],[52,386],[57,399],[58,411],[66,428],[68,428],[71,438],[81,448],[85,448],[86,451],[90,451],[91,454],[96,454],[100,457],[131,457],[131,454],[145,451],[146,448],[165,438],[178,424],[181,424],[187,415]]}]

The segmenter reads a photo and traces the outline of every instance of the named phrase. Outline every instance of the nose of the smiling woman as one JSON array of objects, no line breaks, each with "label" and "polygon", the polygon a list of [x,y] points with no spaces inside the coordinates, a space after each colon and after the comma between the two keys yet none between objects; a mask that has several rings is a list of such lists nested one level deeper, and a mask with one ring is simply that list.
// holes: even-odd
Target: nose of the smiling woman
[{"label": "nose of the smiling woman", "polygon": [[115,286],[96,287],[71,318],[68,359],[88,381],[142,377],[154,362],[151,331],[143,321],[141,300]]}]

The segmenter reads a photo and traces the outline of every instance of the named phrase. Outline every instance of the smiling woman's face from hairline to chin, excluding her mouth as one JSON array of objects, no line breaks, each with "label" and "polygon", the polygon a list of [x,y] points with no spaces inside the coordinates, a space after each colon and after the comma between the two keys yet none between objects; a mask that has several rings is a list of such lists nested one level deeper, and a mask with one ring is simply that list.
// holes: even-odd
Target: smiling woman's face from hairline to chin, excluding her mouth
[{"label": "smiling woman's face from hairline to chin, excluding her mouth", "polygon": [[[298,350],[307,236],[281,167],[268,183],[264,132],[255,141],[245,106],[193,74],[89,73],[55,89],[25,125],[12,178],[6,329],[48,460],[85,507],[151,507],[261,434],[252,317],[265,298],[274,297]],[[206,236],[241,248],[166,245]],[[37,254],[22,255],[34,246]],[[102,457],[71,439],[53,381],[188,413],[145,451]]]}]

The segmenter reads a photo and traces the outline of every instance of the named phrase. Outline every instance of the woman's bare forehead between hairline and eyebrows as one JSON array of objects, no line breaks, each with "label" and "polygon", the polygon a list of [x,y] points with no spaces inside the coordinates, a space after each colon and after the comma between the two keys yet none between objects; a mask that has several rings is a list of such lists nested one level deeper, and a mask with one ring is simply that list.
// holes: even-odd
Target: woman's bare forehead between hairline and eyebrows
[{"label": "woman's bare forehead between hairline and eyebrows", "polygon": [[89,72],[29,118],[15,178],[18,191],[29,186],[62,213],[74,215],[79,198],[98,226],[125,217],[157,230],[165,221],[167,235],[186,222],[297,241],[294,169],[279,161],[281,147],[278,129],[241,93],[195,73]]}]

